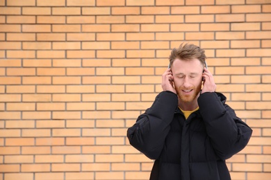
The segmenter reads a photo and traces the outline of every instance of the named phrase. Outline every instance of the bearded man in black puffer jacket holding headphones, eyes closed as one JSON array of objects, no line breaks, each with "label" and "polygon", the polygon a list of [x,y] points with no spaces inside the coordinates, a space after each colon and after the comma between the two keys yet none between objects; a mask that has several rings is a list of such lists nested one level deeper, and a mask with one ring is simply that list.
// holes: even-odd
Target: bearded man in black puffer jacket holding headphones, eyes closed
[{"label": "bearded man in black puffer jacket holding headphones, eyes closed", "polygon": [[151,180],[229,180],[225,163],[252,136],[250,129],[215,92],[204,67],[204,50],[174,48],[163,91],[127,131],[133,147],[155,159]]}]

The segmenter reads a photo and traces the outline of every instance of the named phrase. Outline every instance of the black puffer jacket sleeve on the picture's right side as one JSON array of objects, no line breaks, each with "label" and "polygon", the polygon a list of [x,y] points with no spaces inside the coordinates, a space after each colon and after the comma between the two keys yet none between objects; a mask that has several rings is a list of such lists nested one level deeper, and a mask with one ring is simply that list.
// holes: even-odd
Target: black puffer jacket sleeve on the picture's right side
[{"label": "black puffer jacket sleeve on the picture's right side", "polygon": [[217,156],[229,159],[243,150],[252,136],[252,129],[236,116],[235,111],[224,104],[216,93],[203,93],[198,103]]}]

